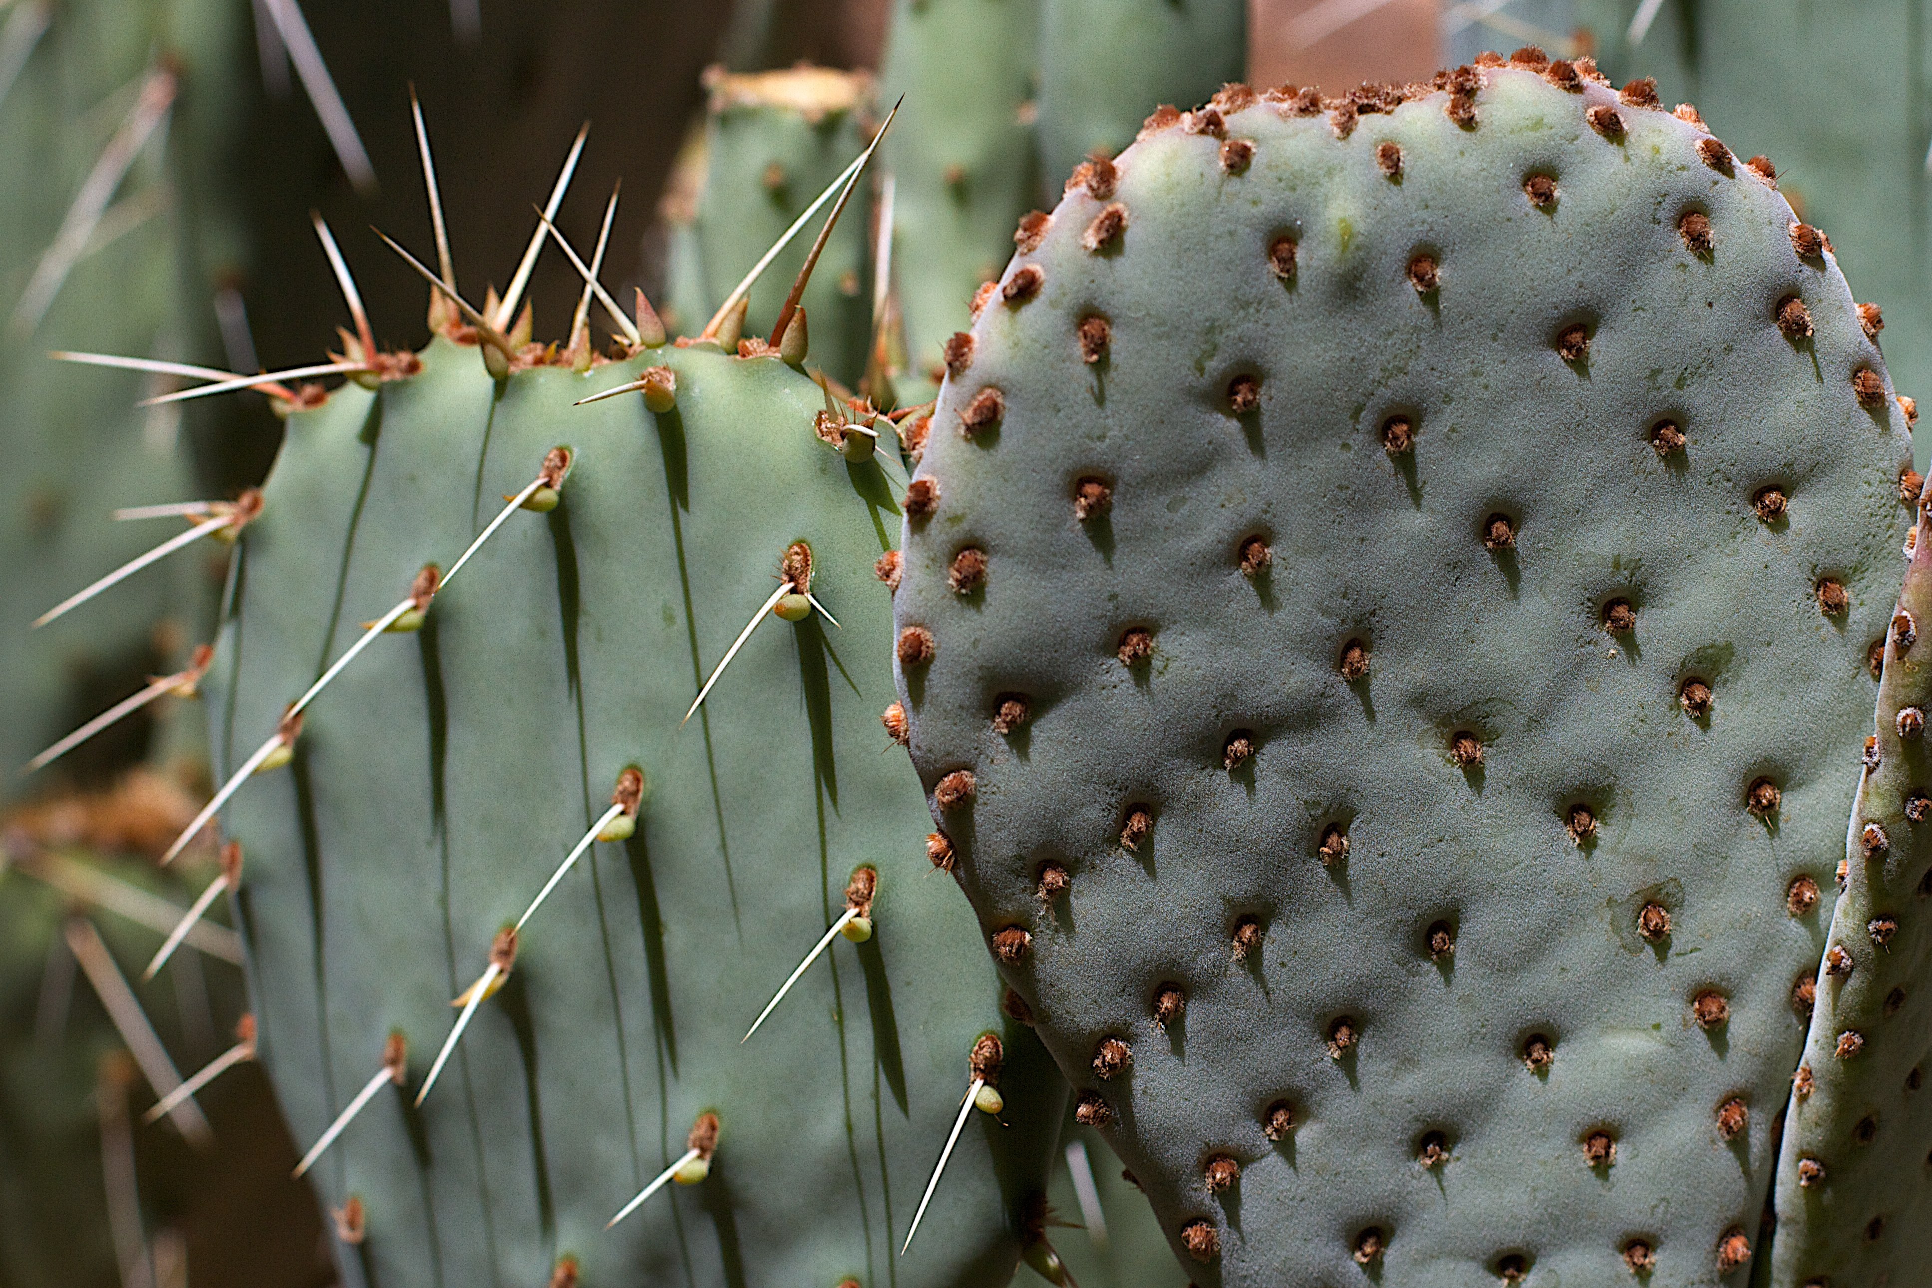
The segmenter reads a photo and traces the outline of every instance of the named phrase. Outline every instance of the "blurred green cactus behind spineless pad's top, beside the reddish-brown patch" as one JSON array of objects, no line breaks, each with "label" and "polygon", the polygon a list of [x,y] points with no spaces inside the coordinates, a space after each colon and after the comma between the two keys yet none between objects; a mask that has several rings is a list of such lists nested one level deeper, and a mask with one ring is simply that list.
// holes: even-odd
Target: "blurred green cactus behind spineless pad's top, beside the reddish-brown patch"
[{"label": "blurred green cactus behind spineless pad's top, beside the reddish-brown patch", "polygon": [[1244,0],[1041,0],[1039,151],[1047,201],[1088,153],[1134,141],[1159,102],[1194,106],[1248,60]]}]

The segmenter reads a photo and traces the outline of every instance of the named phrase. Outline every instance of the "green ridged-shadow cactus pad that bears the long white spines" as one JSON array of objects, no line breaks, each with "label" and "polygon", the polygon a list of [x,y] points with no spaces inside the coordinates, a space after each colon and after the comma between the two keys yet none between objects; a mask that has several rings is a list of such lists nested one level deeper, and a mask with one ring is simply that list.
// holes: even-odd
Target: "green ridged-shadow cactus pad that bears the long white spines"
[{"label": "green ridged-shadow cactus pad that bears the long white spines", "polygon": [[[676,406],[578,398],[663,363]],[[777,357],[672,348],[589,375],[487,378],[437,338],[421,373],[290,417],[243,533],[211,693],[222,769],[282,703],[448,560],[570,444],[547,516],[512,514],[417,635],[379,639],[309,709],[294,763],[249,782],[224,830],[249,865],[263,1062],[298,1141],[381,1068],[410,1083],[323,1157],[327,1201],[361,1199],[342,1257],[384,1288],[543,1284],[1003,1282],[1043,1188],[1065,1085],[1005,1033],[1005,1120],[974,1114],[918,1242],[896,1257],[1001,991],[970,919],[922,879],[918,786],[883,757],[896,512],[877,463],[813,436],[819,390]],[[838,616],[771,618],[690,724],[697,682],[810,543]],[[510,983],[440,1081],[410,1101],[483,966],[643,772],[636,834],[599,844],[524,927]],[[879,875],[871,940],[837,940],[748,1045],[740,1037]],[[676,1159],[701,1112],[709,1180],[605,1220]],[[896,1267],[896,1269],[893,1269]]]}]

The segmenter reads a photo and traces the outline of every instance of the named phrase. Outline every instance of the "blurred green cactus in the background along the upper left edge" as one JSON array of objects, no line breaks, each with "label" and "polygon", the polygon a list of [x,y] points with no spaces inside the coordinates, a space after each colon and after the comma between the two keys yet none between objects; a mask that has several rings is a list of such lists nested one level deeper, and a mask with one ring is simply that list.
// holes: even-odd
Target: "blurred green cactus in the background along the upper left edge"
[{"label": "blurred green cactus in the background along the upper left edge", "polygon": [[207,359],[193,348],[214,321],[205,268],[230,230],[201,180],[222,160],[232,19],[232,6],[193,0],[23,4],[0,19],[17,58],[0,87],[0,166],[15,176],[0,193],[0,471],[15,498],[0,514],[0,799],[139,755],[141,724],[37,780],[15,772],[143,674],[178,664],[193,610],[209,602],[195,593],[203,566],[178,556],[110,604],[31,628],[174,535],[164,521],[114,523],[114,508],[197,494],[180,409],[133,407],[158,392],[151,378],[46,353]]}]

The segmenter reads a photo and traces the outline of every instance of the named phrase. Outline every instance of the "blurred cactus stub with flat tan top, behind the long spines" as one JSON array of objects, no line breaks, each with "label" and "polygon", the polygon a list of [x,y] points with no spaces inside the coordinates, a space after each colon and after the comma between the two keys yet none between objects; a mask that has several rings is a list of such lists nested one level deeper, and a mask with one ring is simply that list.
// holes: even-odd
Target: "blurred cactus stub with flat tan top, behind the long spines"
[{"label": "blurred cactus stub with flat tan top, behind the long spines", "polygon": [[[696,249],[705,284],[701,315],[680,297],[690,334],[711,309],[779,239],[792,220],[831,183],[871,137],[864,116],[871,83],[862,73],[827,68],[730,73],[707,71],[711,100],[705,116],[705,182],[697,193],[694,239],[678,239],[684,257]],[[823,212],[792,241],[752,288],[746,334],[767,338],[784,292],[806,261]],[[690,274],[682,263],[672,278]],[[871,334],[866,201],[854,193],[806,288],[813,363],[846,382],[866,369]]]}]

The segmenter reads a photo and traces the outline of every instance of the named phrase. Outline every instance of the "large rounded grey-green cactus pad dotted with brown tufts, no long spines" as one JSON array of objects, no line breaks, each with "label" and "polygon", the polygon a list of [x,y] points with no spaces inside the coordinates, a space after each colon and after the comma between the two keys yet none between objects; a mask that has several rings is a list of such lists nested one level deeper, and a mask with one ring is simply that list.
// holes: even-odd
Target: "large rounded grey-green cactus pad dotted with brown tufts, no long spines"
[{"label": "large rounded grey-green cactus pad dotted with brown tufts, no long spines", "polygon": [[1758,1242],[1909,434],[1830,247],[1642,91],[1157,114],[958,346],[912,755],[1196,1282]]}]

